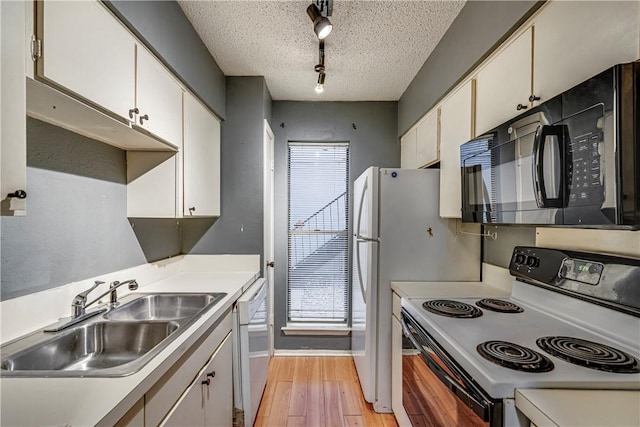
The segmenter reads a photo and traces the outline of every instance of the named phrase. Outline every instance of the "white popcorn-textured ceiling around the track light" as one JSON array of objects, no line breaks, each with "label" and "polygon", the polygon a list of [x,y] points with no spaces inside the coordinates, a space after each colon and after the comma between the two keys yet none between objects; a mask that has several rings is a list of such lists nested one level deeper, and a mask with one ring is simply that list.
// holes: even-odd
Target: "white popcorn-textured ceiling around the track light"
[{"label": "white popcorn-textured ceiling around the track light", "polygon": [[398,100],[464,6],[461,1],[334,0],[325,90],[314,91],[311,1],[184,1],[227,76],[264,76],[274,100]]}]

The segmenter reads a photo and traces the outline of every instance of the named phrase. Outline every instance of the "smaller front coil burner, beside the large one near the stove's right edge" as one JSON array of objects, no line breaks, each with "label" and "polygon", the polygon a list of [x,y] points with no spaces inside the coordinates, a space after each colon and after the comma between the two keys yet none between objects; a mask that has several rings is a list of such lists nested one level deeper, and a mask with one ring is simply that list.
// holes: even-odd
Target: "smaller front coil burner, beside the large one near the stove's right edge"
[{"label": "smaller front coil burner, beside the large one near the stove's right edge", "polygon": [[476,347],[485,359],[523,372],[549,372],[553,370],[553,362],[537,351],[507,341],[486,341]]}]

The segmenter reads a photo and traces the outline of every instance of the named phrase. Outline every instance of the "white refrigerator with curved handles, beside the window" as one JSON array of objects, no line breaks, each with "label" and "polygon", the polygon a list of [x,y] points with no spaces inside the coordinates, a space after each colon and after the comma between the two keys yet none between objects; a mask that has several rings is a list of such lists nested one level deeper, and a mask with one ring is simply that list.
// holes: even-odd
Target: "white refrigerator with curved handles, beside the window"
[{"label": "white refrigerator with curved handles, beside the window", "polygon": [[440,171],[370,167],[354,183],[351,349],[365,399],[391,412],[390,281],[479,281],[480,237],[439,217]]}]

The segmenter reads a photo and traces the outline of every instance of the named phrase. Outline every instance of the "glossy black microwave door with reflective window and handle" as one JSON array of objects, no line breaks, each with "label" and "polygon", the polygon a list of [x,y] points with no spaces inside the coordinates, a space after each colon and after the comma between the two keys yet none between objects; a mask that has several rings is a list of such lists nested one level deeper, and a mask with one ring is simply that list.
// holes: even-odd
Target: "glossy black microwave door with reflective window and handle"
[{"label": "glossy black microwave door with reflective window and handle", "polygon": [[493,132],[461,146],[463,221],[563,223],[567,128],[541,116],[513,123],[510,139]]}]

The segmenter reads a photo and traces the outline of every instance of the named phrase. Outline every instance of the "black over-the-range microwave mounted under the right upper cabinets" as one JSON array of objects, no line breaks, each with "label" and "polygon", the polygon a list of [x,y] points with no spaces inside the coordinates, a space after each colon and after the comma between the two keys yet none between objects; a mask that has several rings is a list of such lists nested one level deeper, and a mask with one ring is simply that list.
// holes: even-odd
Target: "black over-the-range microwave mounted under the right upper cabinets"
[{"label": "black over-the-range microwave mounted under the right upper cabinets", "polygon": [[462,220],[640,227],[640,61],[461,145]]}]

